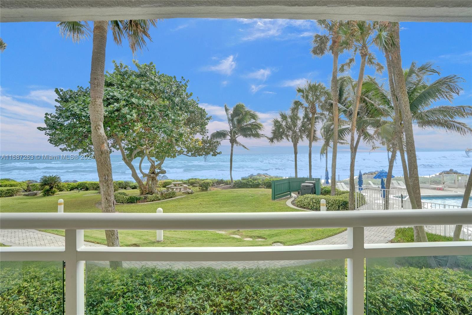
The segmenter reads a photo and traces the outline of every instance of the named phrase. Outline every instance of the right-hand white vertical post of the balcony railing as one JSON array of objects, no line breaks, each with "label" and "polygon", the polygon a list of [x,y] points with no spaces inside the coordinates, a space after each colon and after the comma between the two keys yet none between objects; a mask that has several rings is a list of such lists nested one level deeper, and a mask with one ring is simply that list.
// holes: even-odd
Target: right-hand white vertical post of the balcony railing
[{"label": "right-hand white vertical post of the balcony railing", "polygon": [[347,259],[347,314],[364,314],[364,228],[347,228],[347,245],[353,249]]}]

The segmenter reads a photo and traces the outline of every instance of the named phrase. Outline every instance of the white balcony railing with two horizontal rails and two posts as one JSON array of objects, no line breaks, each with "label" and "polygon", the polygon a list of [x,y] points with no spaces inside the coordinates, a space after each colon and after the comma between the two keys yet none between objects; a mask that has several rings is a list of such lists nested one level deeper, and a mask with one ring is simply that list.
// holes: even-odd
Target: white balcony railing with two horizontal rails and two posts
[{"label": "white balcony railing with two horizontal rails and two posts", "polygon": [[[365,227],[472,224],[472,209],[265,213],[1,213],[0,229],[65,229],[65,247],[0,247],[0,261],[65,261],[66,314],[84,314],[85,261],[347,259],[347,313],[364,313],[364,259],[470,255],[472,242],[364,244]],[[348,228],[345,245],[90,247],[84,229],[248,230]],[[75,266],[70,268],[69,266]]]}]

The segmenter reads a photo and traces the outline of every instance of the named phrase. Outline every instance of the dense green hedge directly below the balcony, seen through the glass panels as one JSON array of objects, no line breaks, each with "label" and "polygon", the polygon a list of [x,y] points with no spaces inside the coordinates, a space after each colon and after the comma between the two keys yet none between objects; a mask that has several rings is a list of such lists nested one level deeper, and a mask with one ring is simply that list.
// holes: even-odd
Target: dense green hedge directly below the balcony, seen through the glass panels
[{"label": "dense green hedge directly below the balcony, seen through the glass panels", "polygon": [[[0,314],[61,314],[57,267],[2,263]],[[44,263],[43,263],[44,264]],[[472,277],[368,265],[369,315],[472,314]],[[343,269],[109,268],[87,264],[87,314],[344,314]]]}]

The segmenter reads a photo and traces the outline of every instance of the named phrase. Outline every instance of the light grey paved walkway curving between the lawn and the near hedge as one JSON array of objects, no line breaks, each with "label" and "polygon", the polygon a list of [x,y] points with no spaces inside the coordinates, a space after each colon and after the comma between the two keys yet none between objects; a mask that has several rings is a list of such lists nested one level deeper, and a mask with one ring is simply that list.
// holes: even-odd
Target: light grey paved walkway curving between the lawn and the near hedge
[{"label": "light grey paved walkway curving between the lawn and the near hedge", "polygon": [[[365,243],[387,243],[395,236],[395,227],[365,228]],[[65,237],[38,230],[0,230],[0,243],[9,246],[64,246]],[[85,246],[105,246],[84,242]],[[347,231],[322,240],[301,245],[336,245],[347,244]],[[152,266],[158,268],[278,268],[313,263],[316,260],[287,260],[287,261],[244,261],[244,262],[123,262],[125,267]],[[105,262],[93,262],[97,265],[107,265]]]}]

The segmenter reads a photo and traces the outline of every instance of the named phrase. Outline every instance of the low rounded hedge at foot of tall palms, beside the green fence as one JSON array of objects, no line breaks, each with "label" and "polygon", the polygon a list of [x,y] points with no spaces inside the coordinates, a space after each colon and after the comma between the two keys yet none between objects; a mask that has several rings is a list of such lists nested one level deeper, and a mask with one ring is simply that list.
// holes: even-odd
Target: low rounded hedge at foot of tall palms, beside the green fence
[{"label": "low rounded hedge at foot of tall palms, beside the green fence", "polygon": [[[358,204],[361,206],[365,204],[365,197],[360,193],[356,193]],[[303,195],[295,199],[295,204],[298,207],[310,210],[320,211],[321,199],[326,200],[326,210],[348,210],[349,209],[349,192],[336,196],[330,195]]]}]

